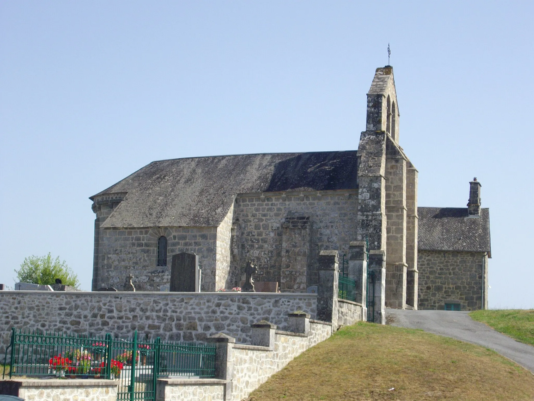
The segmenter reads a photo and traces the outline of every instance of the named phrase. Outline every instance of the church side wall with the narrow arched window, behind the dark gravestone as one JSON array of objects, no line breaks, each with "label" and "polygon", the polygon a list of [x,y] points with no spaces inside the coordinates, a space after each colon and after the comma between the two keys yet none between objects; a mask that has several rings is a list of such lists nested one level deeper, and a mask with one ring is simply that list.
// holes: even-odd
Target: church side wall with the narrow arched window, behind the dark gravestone
[{"label": "church side wall with the narrow arched window, behind the dark gravestone", "polygon": [[[158,238],[166,236],[167,266],[156,266]],[[170,282],[172,255],[199,255],[202,291],[215,291],[217,227],[158,227],[100,229],[98,245],[99,287],[123,290],[128,274],[137,291],[160,291]]]}]

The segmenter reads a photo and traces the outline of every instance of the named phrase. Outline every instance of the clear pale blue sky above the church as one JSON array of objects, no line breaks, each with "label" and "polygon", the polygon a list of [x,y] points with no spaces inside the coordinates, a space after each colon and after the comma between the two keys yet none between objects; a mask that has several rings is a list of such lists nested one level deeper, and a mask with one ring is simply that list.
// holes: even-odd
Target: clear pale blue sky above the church
[{"label": "clear pale blue sky above the church", "polygon": [[490,207],[491,307],[534,307],[532,2],[0,3],[0,282],[59,255],[90,289],[88,197],[153,160],[357,149],[391,65],[419,206]]}]

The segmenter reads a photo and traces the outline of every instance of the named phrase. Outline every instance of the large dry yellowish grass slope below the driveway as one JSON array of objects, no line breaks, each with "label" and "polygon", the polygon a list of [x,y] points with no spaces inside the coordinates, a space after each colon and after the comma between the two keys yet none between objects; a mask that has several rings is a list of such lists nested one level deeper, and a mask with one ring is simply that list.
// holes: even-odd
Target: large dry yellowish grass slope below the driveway
[{"label": "large dry yellowish grass slope below the driveway", "polygon": [[534,375],[494,351],[422,330],[360,322],[302,353],[248,399],[533,398]]}]

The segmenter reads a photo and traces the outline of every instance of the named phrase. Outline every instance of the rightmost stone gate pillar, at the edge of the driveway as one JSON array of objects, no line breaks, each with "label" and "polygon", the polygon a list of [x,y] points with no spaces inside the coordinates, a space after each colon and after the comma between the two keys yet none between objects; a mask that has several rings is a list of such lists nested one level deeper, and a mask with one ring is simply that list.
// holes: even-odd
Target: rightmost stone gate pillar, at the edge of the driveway
[{"label": "rightmost stone gate pillar, at the edge of the driveway", "polygon": [[371,279],[367,294],[367,321],[386,324],[386,252],[383,250],[369,251],[367,269]]}]

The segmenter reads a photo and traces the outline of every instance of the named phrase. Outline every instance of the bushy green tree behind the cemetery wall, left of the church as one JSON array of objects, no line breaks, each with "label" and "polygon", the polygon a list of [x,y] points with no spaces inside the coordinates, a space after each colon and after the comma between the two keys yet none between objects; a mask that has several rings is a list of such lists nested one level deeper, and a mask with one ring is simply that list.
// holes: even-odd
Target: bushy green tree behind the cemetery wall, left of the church
[{"label": "bushy green tree behind the cemetery wall, left of the church", "polygon": [[25,258],[20,269],[15,269],[17,279],[25,283],[52,284],[56,279],[67,286],[78,287],[78,276],[67,266],[65,260],[52,259],[50,253],[46,256],[30,256]]}]

